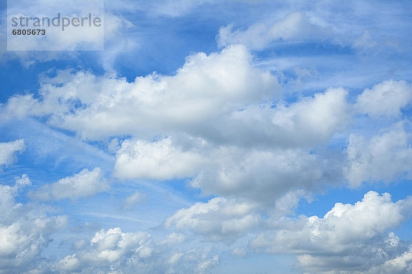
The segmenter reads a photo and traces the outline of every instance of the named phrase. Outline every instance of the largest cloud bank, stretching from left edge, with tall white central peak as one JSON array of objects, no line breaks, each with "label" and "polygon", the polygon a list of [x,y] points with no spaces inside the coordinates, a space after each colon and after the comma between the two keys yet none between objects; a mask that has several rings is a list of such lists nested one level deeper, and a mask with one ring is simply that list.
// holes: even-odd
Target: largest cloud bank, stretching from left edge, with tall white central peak
[{"label": "largest cloud bank, stretching from left edge, with tall white central peak", "polygon": [[345,128],[350,117],[346,90],[330,88],[273,108],[279,99],[277,79],[251,60],[247,49],[236,45],[190,55],[174,76],[154,74],[132,83],[62,71],[43,79],[43,99],[15,96],[3,111],[5,117],[47,116],[50,124],[84,138],[132,134],[137,143],[188,135],[212,143],[290,147],[316,145]]}]

